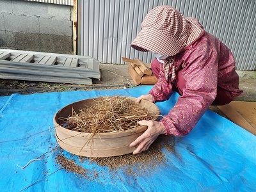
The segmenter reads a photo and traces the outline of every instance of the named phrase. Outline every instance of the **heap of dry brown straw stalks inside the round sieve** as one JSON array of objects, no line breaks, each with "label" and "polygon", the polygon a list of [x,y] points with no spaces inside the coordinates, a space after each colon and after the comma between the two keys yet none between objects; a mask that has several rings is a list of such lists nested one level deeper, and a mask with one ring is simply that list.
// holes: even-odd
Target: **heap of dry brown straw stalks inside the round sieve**
[{"label": "heap of dry brown straw stalks inside the round sieve", "polygon": [[100,97],[99,101],[95,100],[95,105],[89,108],[85,106],[79,113],[73,110],[65,128],[92,134],[125,131],[137,127],[140,120],[152,118],[148,109],[129,100],[129,97]]}]

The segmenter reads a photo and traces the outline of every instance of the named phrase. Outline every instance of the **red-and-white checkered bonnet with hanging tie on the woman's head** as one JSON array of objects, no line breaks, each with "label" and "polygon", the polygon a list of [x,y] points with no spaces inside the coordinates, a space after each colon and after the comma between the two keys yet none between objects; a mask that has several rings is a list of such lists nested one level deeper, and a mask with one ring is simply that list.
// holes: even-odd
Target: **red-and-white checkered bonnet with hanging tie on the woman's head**
[{"label": "red-and-white checkered bonnet with hanging tie on the woman's head", "polygon": [[172,79],[175,78],[174,57],[182,49],[192,44],[204,33],[204,29],[193,18],[184,17],[171,6],[157,6],[151,10],[141,24],[141,31],[131,44],[138,51],[152,51],[169,56],[164,61],[166,79],[172,68]]}]

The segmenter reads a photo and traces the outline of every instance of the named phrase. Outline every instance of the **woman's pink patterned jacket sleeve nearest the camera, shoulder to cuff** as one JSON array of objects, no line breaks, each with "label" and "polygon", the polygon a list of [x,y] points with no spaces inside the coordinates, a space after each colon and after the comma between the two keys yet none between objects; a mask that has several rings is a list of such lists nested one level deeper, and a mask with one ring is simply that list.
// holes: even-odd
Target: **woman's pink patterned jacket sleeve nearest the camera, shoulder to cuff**
[{"label": "woman's pink patterned jacket sleeve nearest the camera, shoulder to cuff", "polygon": [[184,60],[182,76],[186,81],[183,95],[161,122],[166,134],[188,134],[214,101],[218,83],[218,54],[207,45],[191,51]]}]

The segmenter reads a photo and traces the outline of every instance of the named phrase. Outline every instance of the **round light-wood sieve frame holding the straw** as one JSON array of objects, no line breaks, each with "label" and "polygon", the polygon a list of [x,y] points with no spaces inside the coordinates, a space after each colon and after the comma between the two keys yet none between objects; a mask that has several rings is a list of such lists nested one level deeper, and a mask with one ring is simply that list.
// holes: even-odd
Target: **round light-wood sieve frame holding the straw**
[{"label": "round light-wood sieve frame holding the straw", "polygon": [[[128,99],[134,102],[137,100],[134,97],[129,97]],[[129,147],[129,145],[145,132],[147,129],[145,125],[140,125],[126,131],[95,134],[93,140],[89,140],[91,133],[72,131],[61,126],[65,124],[63,118],[72,115],[72,110],[79,113],[79,109],[81,109],[82,106],[90,108],[97,100],[100,100],[100,98],[97,97],[74,102],[60,109],[60,111],[54,115],[55,136],[60,147],[72,154],[86,157],[120,156],[133,152],[136,148]],[[140,105],[146,108],[150,115],[155,116],[152,120],[157,120],[160,112],[156,104],[148,102],[147,100],[141,100]],[[86,142],[87,144],[84,145]]]}]

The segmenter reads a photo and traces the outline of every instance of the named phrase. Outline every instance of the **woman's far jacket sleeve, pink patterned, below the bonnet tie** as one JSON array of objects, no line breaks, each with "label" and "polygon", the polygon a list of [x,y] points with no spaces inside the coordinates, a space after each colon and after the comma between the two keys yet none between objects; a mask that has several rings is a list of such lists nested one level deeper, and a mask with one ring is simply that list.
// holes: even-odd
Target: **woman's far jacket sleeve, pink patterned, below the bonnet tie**
[{"label": "woman's far jacket sleeve, pink patterned, below the bonnet tie", "polygon": [[148,92],[154,97],[155,102],[168,100],[173,93],[172,84],[168,83],[168,81],[166,81],[166,78],[164,77],[163,63],[159,62],[159,67],[160,72],[158,81]]}]

